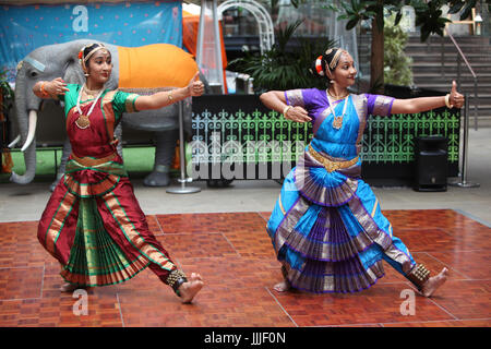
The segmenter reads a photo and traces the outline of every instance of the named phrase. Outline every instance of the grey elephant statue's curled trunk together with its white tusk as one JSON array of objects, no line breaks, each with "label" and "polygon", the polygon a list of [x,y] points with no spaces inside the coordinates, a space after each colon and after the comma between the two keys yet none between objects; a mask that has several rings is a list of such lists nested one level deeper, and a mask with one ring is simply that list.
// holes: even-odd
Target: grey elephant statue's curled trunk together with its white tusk
[{"label": "grey elephant statue's curled trunk together with its white tusk", "polygon": [[[23,69],[17,73],[15,79],[15,109],[17,113],[17,127],[21,135],[22,152],[24,152],[25,172],[17,174],[12,171],[10,180],[17,184],[31,183],[36,173],[36,121],[37,110],[28,110],[26,99],[28,95],[34,93],[27,91],[24,82],[25,72]],[[39,105],[39,103],[38,103]]]}]

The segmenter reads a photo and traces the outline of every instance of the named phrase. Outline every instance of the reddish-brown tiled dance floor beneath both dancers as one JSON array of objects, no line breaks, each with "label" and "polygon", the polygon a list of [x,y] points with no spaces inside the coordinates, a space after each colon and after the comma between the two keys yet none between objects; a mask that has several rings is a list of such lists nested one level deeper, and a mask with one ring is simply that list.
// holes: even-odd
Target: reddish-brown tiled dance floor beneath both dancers
[{"label": "reddish-brown tiled dance floor beneath both dancers", "polygon": [[418,262],[451,273],[433,298],[416,296],[411,315],[402,314],[409,300],[402,291],[411,285],[388,264],[362,292],[275,292],[282,275],[265,232],[268,213],[252,212],[147,216],[175,262],[206,286],[183,305],[146,269],[89,289],[87,315],[58,290],[59,265],[38,243],[37,222],[0,222],[0,326],[490,326],[491,228],[452,209],[384,214]]}]

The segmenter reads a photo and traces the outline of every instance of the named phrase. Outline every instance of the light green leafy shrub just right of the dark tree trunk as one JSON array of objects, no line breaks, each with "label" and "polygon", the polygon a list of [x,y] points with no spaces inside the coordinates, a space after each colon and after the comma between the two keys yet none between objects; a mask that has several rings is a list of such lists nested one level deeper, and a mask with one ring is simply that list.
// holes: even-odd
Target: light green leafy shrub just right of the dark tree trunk
[{"label": "light green leafy shrub just right of the dark tree trunk", "polygon": [[386,84],[412,85],[412,59],[404,52],[408,34],[395,25],[395,15],[385,19],[384,26],[384,82]]}]

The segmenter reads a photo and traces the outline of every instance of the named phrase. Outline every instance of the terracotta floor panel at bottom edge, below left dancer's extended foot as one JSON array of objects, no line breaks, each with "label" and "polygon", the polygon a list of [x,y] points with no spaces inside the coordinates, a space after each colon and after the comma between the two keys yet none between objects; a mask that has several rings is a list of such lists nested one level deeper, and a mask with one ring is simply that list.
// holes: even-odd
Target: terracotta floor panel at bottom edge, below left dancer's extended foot
[{"label": "terracotta floor panel at bottom edge, below left dancer's extended foot", "polygon": [[166,294],[136,291],[119,294],[119,299],[125,326],[294,326],[264,288],[219,292],[205,287],[193,304],[184,305],[170,291]]}]

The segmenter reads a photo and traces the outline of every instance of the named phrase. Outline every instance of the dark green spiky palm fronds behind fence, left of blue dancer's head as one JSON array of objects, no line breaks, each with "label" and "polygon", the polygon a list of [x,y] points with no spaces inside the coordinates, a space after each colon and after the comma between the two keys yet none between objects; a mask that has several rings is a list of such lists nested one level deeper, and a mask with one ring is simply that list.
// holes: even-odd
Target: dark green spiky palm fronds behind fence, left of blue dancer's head
[{"label": "dark green spiky palm fronds behind fence, left of blue dancer's head", "polygon": [[[315,77],[309,69],[323,51],[333,47],[332,40],[311,43],[294,38],[295,31],[302,21],[287,25],[276,32],[275,45],[263,55],[246,52],[243,58],[232,60],[229,70],[251,75],[254,79],[254,92],[271,89],[290,89],[320,87],[325,88],[325,81]],[[297,40],[296,49],[288,49],[287,44]]]}]

